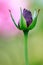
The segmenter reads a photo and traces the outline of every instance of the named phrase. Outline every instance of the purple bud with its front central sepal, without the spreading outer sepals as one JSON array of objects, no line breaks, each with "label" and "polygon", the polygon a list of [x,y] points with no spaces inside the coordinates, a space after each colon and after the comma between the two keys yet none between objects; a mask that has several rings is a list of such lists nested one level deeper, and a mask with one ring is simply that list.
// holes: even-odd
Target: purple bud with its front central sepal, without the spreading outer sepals
[{"label": "purple bud with its front central sepal, without the spreading outer sepals", "polygon": [[21,18],[18,22],[18,26],[20,27],[20,29],[26,30],[31,23],[32,23],[32,13],[27,9],[23,9],[22,13],[21,10]]}]

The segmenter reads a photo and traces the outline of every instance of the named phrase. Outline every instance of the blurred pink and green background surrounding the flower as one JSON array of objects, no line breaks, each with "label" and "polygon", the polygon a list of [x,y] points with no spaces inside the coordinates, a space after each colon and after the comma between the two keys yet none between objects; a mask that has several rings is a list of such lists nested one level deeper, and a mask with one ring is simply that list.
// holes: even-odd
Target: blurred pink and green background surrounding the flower
[{"label": "blurred pink and green background surrounding the flower", "polygon": [[18,23],[19,7],[32,13],[40,9],[37,24],[28,34],[28,58],[30,65],[43,65],[43,0],[0,0],[0,65],[25,65],[24,35],[8,12],[11,9]]}]

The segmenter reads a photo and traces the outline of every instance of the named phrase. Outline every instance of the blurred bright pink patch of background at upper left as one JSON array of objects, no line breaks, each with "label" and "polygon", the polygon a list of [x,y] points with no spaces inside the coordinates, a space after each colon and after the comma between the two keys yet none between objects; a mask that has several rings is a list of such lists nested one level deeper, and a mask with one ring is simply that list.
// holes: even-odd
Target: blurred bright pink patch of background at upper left
[{"label": "blurred bright pink patch of background at upper left", "polygon": [[26,3],[22,0],[0,0],[0,35],[15,34],[18,32],[11,20],[8,9],[11,9],[14,19],[18,24],[20,7],[26,7]]}]

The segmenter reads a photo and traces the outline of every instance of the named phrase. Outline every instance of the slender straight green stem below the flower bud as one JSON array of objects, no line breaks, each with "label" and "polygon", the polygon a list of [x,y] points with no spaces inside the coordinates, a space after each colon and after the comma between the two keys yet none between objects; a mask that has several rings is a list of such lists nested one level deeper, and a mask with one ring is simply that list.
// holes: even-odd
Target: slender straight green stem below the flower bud
[{"label": "slender straight green stem below the flower bud", "polygon": [[24,32],[24,38],[25,38],[25,64],[28,65],[28,44],[27,44],[27,40],[28,40],[28,32]]}]

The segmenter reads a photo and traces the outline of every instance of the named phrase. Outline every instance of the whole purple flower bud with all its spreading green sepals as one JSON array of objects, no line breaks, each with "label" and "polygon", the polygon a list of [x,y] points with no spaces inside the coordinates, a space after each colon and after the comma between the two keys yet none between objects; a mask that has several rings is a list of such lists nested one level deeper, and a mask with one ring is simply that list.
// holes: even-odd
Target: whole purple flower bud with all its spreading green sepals
[{"label": "whole purple flower bud with all its spreading green sepals", "polygon": [[27,9],[23,9],[23,12],[22,12],[22,9],[20,8],[20,11],[21,11],[21,16],[20,16],[20,19],[19,19],[19,22],[17,25],[12,16],[11,11],[9,10],[10,16],[11,16],[15,26],[18,29],[23,30],[23,31],[29,31],[29,30],[33,29],[36,25],[40,9],[38,9],[38,11],[35,10],[33,16],[32,16],[32,13]]}]

